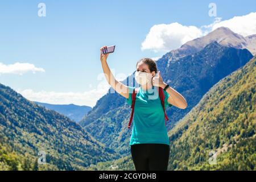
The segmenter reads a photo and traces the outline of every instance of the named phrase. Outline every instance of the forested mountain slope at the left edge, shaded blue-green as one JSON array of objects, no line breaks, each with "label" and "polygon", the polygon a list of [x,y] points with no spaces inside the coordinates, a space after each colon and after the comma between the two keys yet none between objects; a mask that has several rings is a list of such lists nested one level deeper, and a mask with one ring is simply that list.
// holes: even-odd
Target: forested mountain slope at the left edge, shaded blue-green
[{"label": "forested mountain slope at the left edge, shaded blue-green", "polygon": [[[45,152],[45,165],[36,161]],[[76,122],[0,84],[0,169],[80,170],[118,158]]]}]

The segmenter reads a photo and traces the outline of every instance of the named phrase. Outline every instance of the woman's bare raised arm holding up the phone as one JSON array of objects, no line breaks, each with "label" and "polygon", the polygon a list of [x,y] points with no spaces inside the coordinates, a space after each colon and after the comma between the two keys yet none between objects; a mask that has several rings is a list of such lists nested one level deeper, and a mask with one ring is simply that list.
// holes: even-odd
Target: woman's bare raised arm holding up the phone
[{"label": "woman's bare raised arm holding up the phone", "polygon": [[107,59],[109,56],[109,53],[102,53],[103,49],[106,48],[106,46],[101,47],[100,51],[100,60],[101,60],[101,65],[102,65],[102,69],[104,72],[104,75],[106,77],[106,80],[109,82],[110,86],[112,86],[112,88],[119,94],[121,94],[121,96],[125,97],[125,98],[129,98],[129,88],[122,84],[121,82],[115,80],[115,77],[113,76],[112,72],[109,69],[109,65],[107,63]]}]

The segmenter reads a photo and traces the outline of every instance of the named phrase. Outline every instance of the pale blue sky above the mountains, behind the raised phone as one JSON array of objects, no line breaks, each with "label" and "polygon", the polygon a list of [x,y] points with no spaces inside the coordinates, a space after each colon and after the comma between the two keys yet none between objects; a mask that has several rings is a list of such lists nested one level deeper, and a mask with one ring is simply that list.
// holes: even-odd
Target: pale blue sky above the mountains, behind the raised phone
[{"label": "pale blue sky above the mountains, behind the raised phone", "polygon": [[[38,16],[40,2],[46,5],[46,17]],[[128,76],[142,57],[166,53],[166,49],[142,50],[151,27],[175,22],[196,27],[213,23],[216,17],[208,15],[212,2],[222,20],[256,11],[253,0],[1,1],[0,63],[5,67],[30,63],[44,72],[0,72],[0,82],[30,100],[93,106],[104,94],[101,90],[91,98],[104,81],[97,79],[102,74],[101,46],[116,45],[115,53],[109,55],[109,67]]]}]

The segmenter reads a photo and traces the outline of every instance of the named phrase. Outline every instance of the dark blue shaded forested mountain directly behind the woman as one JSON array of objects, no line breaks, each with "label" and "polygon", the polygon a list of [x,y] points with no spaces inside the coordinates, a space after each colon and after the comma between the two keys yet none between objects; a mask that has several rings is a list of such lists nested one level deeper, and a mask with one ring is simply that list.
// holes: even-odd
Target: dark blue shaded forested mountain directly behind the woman
[{"label": "dark blue shaded forested mountain directly behind the woman", "polygon": [[[163,61],[157,61],[163,79],[188,102],[188,107],[184,110],[177,107],[169,107],[166,110],[170,118],[167,122],[168,130],[182,119],[214,84],[245,65],[251,57],[247,49],[224,47],[213,42],[199,52],[172,61],[168,69],[159,65]],[[167,61],[163,64],[167,65]],[[134,82],[133,77],[134,74],[129,80],[123,81],[124,84],[127,85],[126,81]],[[126,104],[124,97],[118,93],[108,93],[85,115],[81,125],[106,146],[114,148],[121,155],[127,155],[130,154],[131,131],[127,129],[130,113],[130,106]]]}]

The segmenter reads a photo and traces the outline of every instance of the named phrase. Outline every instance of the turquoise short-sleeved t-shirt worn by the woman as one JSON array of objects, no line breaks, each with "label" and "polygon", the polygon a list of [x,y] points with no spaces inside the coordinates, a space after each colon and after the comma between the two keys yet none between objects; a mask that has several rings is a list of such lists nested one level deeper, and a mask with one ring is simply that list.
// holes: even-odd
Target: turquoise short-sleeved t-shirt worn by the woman
[{"label": "turquoise short-sleeved t-shirt worn by the woman", "polygon": [[[131,95],[135,87],[128,86],[129,98],[127,104],[131,105]],[[164,107],[172,106],[167,102],[170,95],[164,92]],[[170,120],[169,120],[170,121]],[[164,111],[158,94],[158,87],[143,90],[141,86],[136,96],[130,145],[138,143],[170,144],[167,128],[164,121]]]}]

